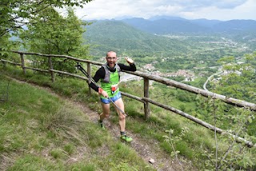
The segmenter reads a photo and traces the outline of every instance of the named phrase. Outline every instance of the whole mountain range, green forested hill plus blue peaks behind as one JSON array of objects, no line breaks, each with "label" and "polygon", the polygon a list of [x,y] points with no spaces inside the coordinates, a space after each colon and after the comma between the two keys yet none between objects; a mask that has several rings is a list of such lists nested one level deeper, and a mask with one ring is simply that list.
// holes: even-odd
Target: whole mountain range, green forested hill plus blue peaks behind
[{"label": "whole mountain range, green forested hill plus blue peaks behind", "polygon": [[[96,20],[86,26],[84,37],[94,46],[94,55],[107,50],[153,53],[156,51],[182,52],[193,42],[179,38],[167,38],[161,35],[218,35],[235,38],[242,42],[255,42],[256,21],[254,20],[187,20],[177,17],[125,18]],[[210,41],[212,36],[207,36]],[[215,38],[215,37],[214,37]],[[217,41],[213,39],[212,41]],[[114,47],[114,49],[113,49]]]}]

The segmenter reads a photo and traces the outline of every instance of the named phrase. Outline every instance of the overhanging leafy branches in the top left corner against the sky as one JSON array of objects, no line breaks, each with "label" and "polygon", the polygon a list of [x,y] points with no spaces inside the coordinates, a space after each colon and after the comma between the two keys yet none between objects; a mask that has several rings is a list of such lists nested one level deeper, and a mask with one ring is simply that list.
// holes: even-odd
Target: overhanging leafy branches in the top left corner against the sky
[{"label": "overhanging leafy branches in the top left corner against the sky", "polygon": [[0,38],[10,32],[16,32],[47,7],[82,7],[92,0],[1,0],[0,2]]}]

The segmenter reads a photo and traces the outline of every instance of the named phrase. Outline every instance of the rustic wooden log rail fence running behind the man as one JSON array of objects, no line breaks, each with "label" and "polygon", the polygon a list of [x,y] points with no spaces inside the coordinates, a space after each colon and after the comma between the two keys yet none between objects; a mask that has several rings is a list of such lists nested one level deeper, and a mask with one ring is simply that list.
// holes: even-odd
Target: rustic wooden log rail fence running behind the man
[{"label": "rustic wooden log rail fence running behind the man", "polygon": [[[87,64],[87,73],[88,74],[91,73],[91,65],[95,65],[95,66],[102,66],[103,65],[102,62],[94,62],[94,61],[90,61],[90,60],[86,60],[86,59],[79,59],[79,58],[70,57],[70,56],[67,56],[67,55],[38,54],[38,53],[28,53],[28,52],[19,52],[19,51],[12,51],[12,52],[16,53],[16,54],[20,54],[21,63],[15,63],[15,62],[7,61],[5,59],[1,59],[1,61],[4,63],[4,65],[5,65],[5,63],[10,63],[10,64],[13,64],[13,65],[16,65],[16,66],[21,66],[24,74],[26,74],[26,69],[38,70],[38,71],[41,71],[41,72],[50,73],[52,82],[54,82],[54,73],[66,74],[66,75],[69,75],[69,76],[72,76],[72,77],[75,77],[75,78],[80,78],[80,79],[88,81],[88,78],[82,77],[78,74],[70,74],[70,73],[67,73],[67,72],[64,72],[64,71],[61,71],[61,70],[54,70],[54,67],[53,67],[52,61],[51,61],[52,58],[66,58],[66,59],[73,60],[75,62],[85,62]],[[24,54],[26,54],[26,55],[37,55],[37,56],[41,56],[42,58],[48,58],[49,69],[48,70],[41,70],[41,69],[38,69],[38,68],[32,68],[32,67],[26,66],[25,59],[24,59]],[[143,72],[140,72],[140,71],[136,71],[136,72],[123,71],[123,72],[128,73],[128,74],[134,74],[138,77],[143,78],[143,81],[144,81],[144,96],[143,97],[137,97],[137,96],[134,96],[132,94],[125,93],[125,92],[121,92],[121,93],[122,93],[122,95],[124,95],[126,97],[130,97],[130,98],[133,98],[134,100],[141,101],[144,104],[144,113],[145,113],[146,118],[150,117],[150,104],[153,104],[153,105],[157,105],[157,106],[159,106],[163,109],[167,109],[167,110],[170,110],[174,113],[177,113],[177,114],[181,115],[182,117],[186,117],[186,118],[190,119],[191,121],[194,121],[194,122],[198,123],[199,125],[202,125],[202,126],[206,127],[207,129],[216,131],[217,133],[227,133],[225,130],[219,129],[219,128],[215,127],[214,125],[210,125],[209,123],[206,123],[205,121],[202,121],[202,120],[198,119],[197,117],[193,117],[190,114],[185,113],[185,112],[183,112],[179,109],[175,109],[175,108],[173,108],[171,106],[168,106],[168,105],[162,105],[162,104],[158,103],[157,101],[154,101],[154,100],[150,99],[150,94],[149,94],[149,89],[150,89],[150,83],[149,82],[150,82],[150,80],[153,80],[155,82],[160,82],[164,85],[171,85],[171,86],[176,87],[178,89],[184,89],[184,90],[186,90],[190,93],[201,94],[204,97],[214,97],[214,98],[220,99],[220,100],[222,100],[225,103],[230,104],[230,105],[235,105],[235,106],[238,106],[238,107],[245,107],[245,108],[250,109],[252,111],[256,110],[256,105],[254,103],[238,100],[238,99],[235,99],[235,98],[232,98],[232,97],[226,97],[226,96],[223,96],[223,95],[218,94],[218,93],[212,93],[212,92],[207,91],[205,89],[199,89],[199,88],[196,88],[196,87],[191,86],[191,85],[186,85],[186,84],[183,84],[181,82],[176,82],[174,80],[170,80],[170,79],[167,79],[167,78],[161,78],[161,77],[154,76],[152,74],[146,74],[146,73],[143,73]],[[229,134],[232,137],[234,137],[236,139],[236,141],[238,141],[238,142],[243,141],[243,142],[246,143],[246,145],[248,145],[250,147],[256,146],[256,145],[253,145],[251,141],[247,141],[246,139],[244,139],[242,137],[238,137],[238,136],[236,136],[234,134],[231,134],[231,133],[229,133]]]}]

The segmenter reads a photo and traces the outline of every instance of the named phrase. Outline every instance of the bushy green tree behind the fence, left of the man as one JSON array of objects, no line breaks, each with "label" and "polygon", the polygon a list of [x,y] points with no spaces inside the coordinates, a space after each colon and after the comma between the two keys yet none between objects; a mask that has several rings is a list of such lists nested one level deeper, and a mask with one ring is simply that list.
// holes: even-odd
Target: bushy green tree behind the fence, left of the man
[{"label": "bushy green tree behind the fence, left of the man", "polygon": [[[82,26],[87,22],[79,20],[74,10],[67,9],[66,17],[58,14],[49,6],[41,10],[38,15],[30,19],[27,30],[22,30],[20,38],[28,51],[42,54],[64,54],[78,58],[88,58],[89,46],[82,45],[82,34],[85,32]],[[47,59],[41,59],[42,67],[48,67]],[[74,63],[53,58],[54,69],[74,71]]]}]

